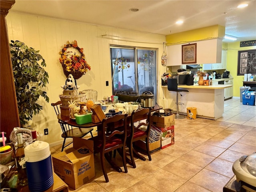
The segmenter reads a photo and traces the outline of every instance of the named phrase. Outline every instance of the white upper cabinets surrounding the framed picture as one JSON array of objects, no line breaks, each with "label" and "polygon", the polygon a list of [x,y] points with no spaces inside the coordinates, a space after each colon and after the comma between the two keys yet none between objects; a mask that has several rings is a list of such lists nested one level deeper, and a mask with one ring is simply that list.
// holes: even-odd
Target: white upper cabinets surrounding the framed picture
[{"label": "white upper cabinets surrounding the framed picture", "polygon": [[[196,43],[196,64],[221,62],[222,40],[220,38],[192,43]],[[189,43],[167,46],[167,66],[184,65],[182,64],[182,45],[186,44]]]}]

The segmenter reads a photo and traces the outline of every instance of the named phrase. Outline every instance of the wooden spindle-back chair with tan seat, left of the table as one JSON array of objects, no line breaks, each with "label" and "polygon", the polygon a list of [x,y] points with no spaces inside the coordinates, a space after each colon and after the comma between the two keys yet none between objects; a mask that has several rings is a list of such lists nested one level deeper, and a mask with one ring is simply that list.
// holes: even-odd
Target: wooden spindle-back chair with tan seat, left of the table
[{"label": "wooden spindle-back chair with tan seat, left of the table", "polygon": [[[55,111],[56,115],[60,114],[60,105],[61,104],[62,104],[62,101],[58,101],[56,103],[51,103],[51,105],[54,107],[54,111]],[[61,137],[64,138],[61,151],[63,151],[65,147],[67,147],[73,143],[73,142],[71,142],[65,146],[66,138],[73,138],[73,137],[82,138],[82,137],[86,136],[88,133],[90,133],[91,136],[93,137],[93,135],[92,135],[93,128],[73,127],[73,126],[66,124],[65,122],[63,122],[61,120],[58,120],[58,123],[60,124],[61,130],[62,130]]]}]

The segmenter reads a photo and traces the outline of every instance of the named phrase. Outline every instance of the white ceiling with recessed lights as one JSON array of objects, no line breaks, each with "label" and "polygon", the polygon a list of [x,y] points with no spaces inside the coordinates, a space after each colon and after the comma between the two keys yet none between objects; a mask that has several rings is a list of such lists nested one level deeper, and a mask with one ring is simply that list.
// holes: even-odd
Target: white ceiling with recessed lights
[{"label": "white ceiling with recessed lights", "polygon": [[218,24],[238,41],[256,39],[255,0],[16,0],[12,11],[164,35]]}]

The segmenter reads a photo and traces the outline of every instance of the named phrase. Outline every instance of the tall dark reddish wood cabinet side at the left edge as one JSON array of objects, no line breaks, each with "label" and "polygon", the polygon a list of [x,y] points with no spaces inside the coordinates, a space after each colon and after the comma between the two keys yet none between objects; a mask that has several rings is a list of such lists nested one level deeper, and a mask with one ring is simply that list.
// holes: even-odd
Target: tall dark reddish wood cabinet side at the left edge
[{"label": "tall dark reddish wood cabinet side at the left edge", "polygon": [[12,72],[12,61],[10,56],[10,46],[6,26],[6,15],[15,0],[1,0],[1,59],[0,59],[0,128],[1,132],[6,132],[7,142],[14,127],[20,127],[18,115],[18,105],[14,78]]}]

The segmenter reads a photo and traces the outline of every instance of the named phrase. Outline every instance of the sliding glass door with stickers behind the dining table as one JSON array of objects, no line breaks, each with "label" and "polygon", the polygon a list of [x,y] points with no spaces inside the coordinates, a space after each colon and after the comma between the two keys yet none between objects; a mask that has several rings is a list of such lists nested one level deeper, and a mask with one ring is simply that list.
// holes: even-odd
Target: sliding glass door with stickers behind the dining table
[{"label": "sliding glass door with stickers behind the dining table", "polygon": [[156,95],[156,49],[110,46],[113,94],[150,91]]}]

